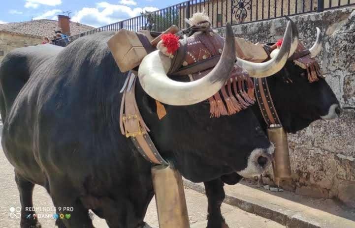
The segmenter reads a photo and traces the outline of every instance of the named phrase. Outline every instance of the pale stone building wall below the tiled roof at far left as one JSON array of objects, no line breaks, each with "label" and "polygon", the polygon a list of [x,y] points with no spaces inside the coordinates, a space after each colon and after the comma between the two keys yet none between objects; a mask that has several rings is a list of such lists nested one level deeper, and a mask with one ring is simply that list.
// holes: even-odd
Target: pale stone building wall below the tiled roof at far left
[{"label": "pale stone building wall below the tiled roof at far left", "polygon": [[0,61],[7,53],[15,48],[27,47],[41,43],[42,40],[38,38],[14,35],[0,31],[0,51],[4,52],[4,55],[0,56]]}]

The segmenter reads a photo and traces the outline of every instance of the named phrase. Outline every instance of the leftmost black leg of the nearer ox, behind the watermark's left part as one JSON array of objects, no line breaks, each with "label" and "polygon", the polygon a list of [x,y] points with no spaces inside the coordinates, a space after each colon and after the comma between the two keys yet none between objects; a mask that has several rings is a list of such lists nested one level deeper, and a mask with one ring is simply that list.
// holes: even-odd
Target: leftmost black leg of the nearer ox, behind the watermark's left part
[{"label": "leftmost black leg of the nearer ox, behind the watermark's left part", "polygon": [[26,208],[33,208],[32,194],[34,184],[19,173],[15,171],[15,181],[17,188],[20,192],[20,201],[21,201],[21,228],[41,228],[41,224],[38,222],[37,218],[33,218],[35,211],[26,210]]}]

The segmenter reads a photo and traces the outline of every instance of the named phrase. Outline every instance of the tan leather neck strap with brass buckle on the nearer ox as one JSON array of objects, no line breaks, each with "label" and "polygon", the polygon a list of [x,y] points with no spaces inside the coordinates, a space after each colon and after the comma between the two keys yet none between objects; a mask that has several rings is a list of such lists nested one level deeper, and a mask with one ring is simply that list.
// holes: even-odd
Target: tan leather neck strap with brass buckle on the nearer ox
[{"label": "tan leather neck strap with brass buckle on the nearer ox", "polygon": [[152,142],[148,134],[150,130],[139,113],[134,91],[136,79],[137,77],[129,72],[129,76],[121,89],[121,92],[123,92],[120,109],[121,133],[131,139],[138,152],[147,161],[168,165],[169,163],[161,157]]}]

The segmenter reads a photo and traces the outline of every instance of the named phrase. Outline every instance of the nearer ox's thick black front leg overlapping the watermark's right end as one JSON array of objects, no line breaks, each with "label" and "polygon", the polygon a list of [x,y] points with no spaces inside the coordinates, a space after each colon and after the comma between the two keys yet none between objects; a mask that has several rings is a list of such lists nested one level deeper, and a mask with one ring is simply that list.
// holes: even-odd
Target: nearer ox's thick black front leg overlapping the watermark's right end
[{"label": "nearer ox's thick black front leg overlapping the watermark's right end", "polygon": [[[89,210],[86,209],[79,199],[77,191],[70,187],[68,182],[52,181],[50,182],[50,194],[58,214],[70,214],[70,218],[64,217],[57,220],[56,225],[59,228],[95,228],[89,217]],[[61,208],[61,210],[59,210]],[[72,208],[68,211],[64,208]]]}]

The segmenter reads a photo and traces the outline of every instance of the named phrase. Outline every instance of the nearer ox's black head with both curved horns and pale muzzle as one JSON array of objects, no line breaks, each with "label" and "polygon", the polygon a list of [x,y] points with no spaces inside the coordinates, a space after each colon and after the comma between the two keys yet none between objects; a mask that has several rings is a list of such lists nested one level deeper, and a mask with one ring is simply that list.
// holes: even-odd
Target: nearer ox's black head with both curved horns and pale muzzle
[{"label": "nearer ox's black head with both curved horns and pale muzzle", "polygon": [[[280,53],[270,61],[251,63],[238,59],[238,63],[254,77],[276,73],[290,55],[290,24],[284,39]],[[245,177],[255,176],[270,164],[274,147],[251,109],[220,118],[206,115],[209,112],[206,99],[226,84],[235,60],[234,36],[227,23],[222,56],[214,69],[199,80],[170,79],[166,72],[171,59],[159,51],[144,57],[139,66],[141,96],[144,97],[139,107],[150,123],[150,135],[162,156],[173,161],[177,169],[193,181],[206,181],[233,171]],[[154,99],[167,104],[168,114],[161,120],[155,114]]]}]

